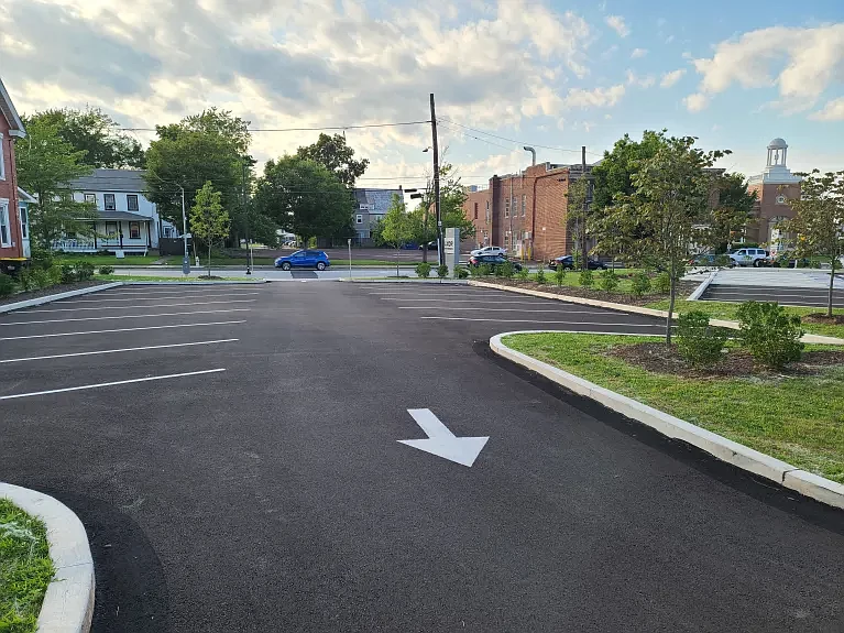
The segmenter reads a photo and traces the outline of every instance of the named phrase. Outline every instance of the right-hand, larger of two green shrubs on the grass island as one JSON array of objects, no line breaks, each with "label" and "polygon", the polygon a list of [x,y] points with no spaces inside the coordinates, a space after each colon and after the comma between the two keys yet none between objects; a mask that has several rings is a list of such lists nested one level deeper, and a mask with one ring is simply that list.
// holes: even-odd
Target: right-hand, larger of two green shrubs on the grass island
[{"label": "right-hand, larger of two green shrubs on the grass island", "polygon": [[800,360],[803,330],[800,317],[786,314],[777,303],[745,302],[738,306],[742,345],[759,364],[781,369]]}]

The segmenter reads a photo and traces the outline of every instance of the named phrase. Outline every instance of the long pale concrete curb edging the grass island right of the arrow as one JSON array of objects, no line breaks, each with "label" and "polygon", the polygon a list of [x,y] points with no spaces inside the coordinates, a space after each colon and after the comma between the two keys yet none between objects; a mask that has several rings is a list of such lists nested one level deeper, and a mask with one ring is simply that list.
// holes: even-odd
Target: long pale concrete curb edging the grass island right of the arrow
[{"label": "long pale concrete curb edging the grass island right of the arrow", "polygon": [[790,463],[754,450],[743,444],[668,415],[609,389],[599,386],[546,362],[516,351],[502,342],[505,336],[516,334],[545,334],[553,330],[520,330],[496,335],[490,339],[490,348],[522,367],[525,367],[579,395],[591,397],[605,407],[645,424],[662,435],[686,441],[710,455],[748,472],[776,481],[780,485],[816,499],[827,505],[844,509],[844,485],[823,477],[801,470]]}]

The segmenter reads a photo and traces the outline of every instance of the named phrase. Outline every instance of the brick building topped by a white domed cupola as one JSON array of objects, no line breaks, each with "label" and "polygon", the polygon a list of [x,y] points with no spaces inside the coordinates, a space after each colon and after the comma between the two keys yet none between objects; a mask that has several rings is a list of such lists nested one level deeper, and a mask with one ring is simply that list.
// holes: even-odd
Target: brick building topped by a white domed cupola
[{"label": "brick building topped by a white domed cupola", "polygon": [[768,161],[765,171],[747,179],[747,190],[756,192],[757,201],[754,207],[756,221],[747,227],[745,239],[758,243],[771,244],[774,250],[777,242],[785,238],[777,230],[777,225],[794,217],[789,200],[800,197],[800,176],[788,168],[788,143],[782,139],[774,139],[768,143]]}]

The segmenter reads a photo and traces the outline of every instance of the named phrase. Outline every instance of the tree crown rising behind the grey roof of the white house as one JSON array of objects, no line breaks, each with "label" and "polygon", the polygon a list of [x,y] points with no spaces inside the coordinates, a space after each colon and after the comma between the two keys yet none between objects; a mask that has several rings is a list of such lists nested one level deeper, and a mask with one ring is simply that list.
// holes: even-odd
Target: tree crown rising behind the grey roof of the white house
[{"label": "tree crown rising behind the grey roof of the white house", "polygon": [[141,143],[120,132],[117,122],[99,108],[44,110],[26,117],[24,124],[29,129],[35,121],[56,125],[59,139],[77,152],[85,151],[80,161],[85,165],[107,168],[144,166]]}]

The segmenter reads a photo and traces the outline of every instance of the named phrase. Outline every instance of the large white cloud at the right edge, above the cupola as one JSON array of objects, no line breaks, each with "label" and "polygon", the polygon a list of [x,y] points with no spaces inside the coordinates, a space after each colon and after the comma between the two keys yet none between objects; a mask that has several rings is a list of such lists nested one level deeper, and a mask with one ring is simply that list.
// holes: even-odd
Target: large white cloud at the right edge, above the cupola
[{"label": "large white cloud at the right edge, above the cupola", "polygon": [[734,84],[777,88],[780,106],[790,111],[807,110],[841,80],[844,23],[750,31],[721,42],[712,57],[694,59],[694,68],[701,75],[700,94],[716,95]]}]

